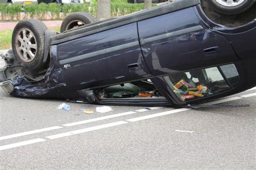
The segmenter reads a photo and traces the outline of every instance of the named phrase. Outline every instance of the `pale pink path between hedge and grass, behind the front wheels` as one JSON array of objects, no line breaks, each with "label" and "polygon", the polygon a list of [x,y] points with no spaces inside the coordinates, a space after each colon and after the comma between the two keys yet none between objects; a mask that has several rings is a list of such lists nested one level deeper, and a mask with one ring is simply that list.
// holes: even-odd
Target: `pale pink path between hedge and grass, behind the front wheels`
[{"label": "pale pink path between hedge and grass, behind the front wheels", "polygon": [[[18,22],[0,22],[0,30],[13,30]],[[62,20],[50,20],[43,22],[48,28],[57,27],[62,24]]]}]

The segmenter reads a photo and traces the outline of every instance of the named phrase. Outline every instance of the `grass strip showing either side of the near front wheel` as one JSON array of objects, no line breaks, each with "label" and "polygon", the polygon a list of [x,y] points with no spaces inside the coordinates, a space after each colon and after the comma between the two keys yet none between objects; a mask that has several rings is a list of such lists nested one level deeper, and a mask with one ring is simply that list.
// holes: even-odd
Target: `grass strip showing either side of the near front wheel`
[{"label": "grass strip showing either side of the near front wheel", "polygon": [[[49,30],[60,32],[60,27],[51,27]],[[11,48],[11,36],[12,36],[12,30],[0,31],[0,49]]]}]

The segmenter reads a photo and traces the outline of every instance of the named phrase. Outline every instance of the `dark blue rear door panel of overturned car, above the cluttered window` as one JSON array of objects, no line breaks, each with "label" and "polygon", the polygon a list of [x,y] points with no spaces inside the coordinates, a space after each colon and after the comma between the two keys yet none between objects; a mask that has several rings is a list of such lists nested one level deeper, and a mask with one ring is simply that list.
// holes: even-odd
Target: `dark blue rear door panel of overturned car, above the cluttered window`
[{"label": "dark blue rear door panel of overturned car, above the cluttered window", "polygon": [[200,23],[193,8],[138,22],[140,44],[154,76],[237,60],[225,37]]}]

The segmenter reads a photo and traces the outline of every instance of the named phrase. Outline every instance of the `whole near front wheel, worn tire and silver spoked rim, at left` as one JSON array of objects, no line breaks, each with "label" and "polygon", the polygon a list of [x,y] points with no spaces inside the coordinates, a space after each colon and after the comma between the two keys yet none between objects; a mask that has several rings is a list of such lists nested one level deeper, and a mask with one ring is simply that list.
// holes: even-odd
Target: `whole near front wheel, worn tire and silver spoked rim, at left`
[{"label": "whole near front wheel, worn tire and silver spoked rim, at left", "polygon": [[26,73],[37,75],[44,69],[44,35],[46,25],[37,19],[19,22],[12,33],[12,50]]}]

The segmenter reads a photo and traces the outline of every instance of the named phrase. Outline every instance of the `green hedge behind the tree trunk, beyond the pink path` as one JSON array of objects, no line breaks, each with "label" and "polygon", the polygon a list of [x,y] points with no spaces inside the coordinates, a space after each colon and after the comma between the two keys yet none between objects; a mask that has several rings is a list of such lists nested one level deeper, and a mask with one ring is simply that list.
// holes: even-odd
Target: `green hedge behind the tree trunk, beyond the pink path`
[{"label": "green hedge behind the tree trunk, beyond the pink path", "polygon": [[[144,4],[111,3],[111,16],[123,16],[132,12],[144,9]],[[23,11],[23,12],[22,12]],[[27,18],[37,18],[41,20],[63,19],[73,12],[85,11],[96,16],[97,3],[65,4],[40,3],[27,4],[0,4],[0,20],[22,20]]]}]

